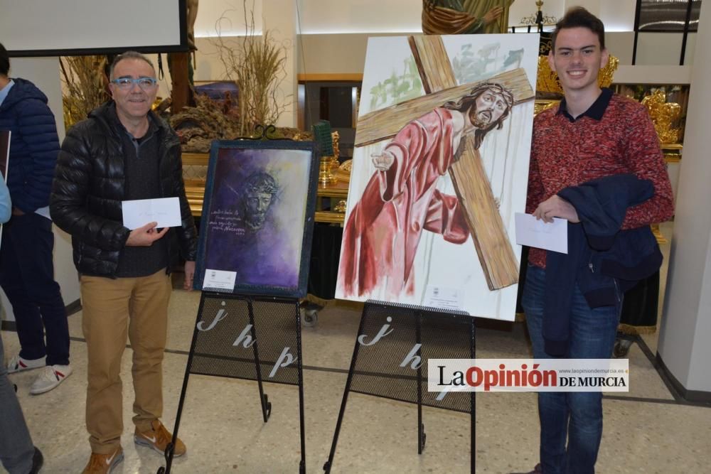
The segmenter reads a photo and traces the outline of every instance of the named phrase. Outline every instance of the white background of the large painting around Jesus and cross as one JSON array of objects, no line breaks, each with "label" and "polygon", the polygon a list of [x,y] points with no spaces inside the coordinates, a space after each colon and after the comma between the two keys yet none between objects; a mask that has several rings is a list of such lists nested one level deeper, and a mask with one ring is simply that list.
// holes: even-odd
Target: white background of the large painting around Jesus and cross
[{"label": "white background of the large painting around Jesus and cross", "polygon": [[[525,71],[530,88],[535,91],[538,35],[443,36],[442,42],[459,85],[487,80],[501,72],[521,68]],[[408,38],[370,38],[359,117],[424,95]],[[520,246],[515,244],[514,222],[515,212],[525,210],[532,127],[533,99],[511,107],[503,128],[489,131],[479,148],[506,234],[519,261]],[[386,139],[375,144],[356,146],[346,227],[368,181],[374,173],[380,173],[376,171],[371,155],[382,152],[389,141]],[[449,173],[438,178],[437,190],[445,195],[455,195]],[[344,254],[353,251],[344,239],[341,265]],[[386,288],[385,282],[380,282],[372,291],[362,295],[345,289],[341,272],[336,298],[439,306],[459,309],[471,316],[513,321],[518,286],[513,284],[501,289],[489,288],[471,235],[466,242],[454,244],[447,242],[440,234],[422,230],[412,272],[412,292],[392,292]]]}]

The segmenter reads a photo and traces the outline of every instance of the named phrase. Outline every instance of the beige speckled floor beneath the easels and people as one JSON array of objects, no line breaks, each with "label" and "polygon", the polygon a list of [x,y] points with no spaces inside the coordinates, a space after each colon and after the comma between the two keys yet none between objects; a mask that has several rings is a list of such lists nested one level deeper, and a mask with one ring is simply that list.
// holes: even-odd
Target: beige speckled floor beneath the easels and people
[{"label": "beige speckled floor beneath the easels and people", "polygon": [[[190,348],[199,293],[176,290],[164,364],[166,426],[172,429]],[[323,472],[343,397],[359,311],[334,304],[314,327],[303,329],[306,470]],[[86,345],[81,313],[70,316],[74,374],[58,389],[33,397],[33,372],[12,375],[33,435],[46,458],[44,473],[78,473],[90,453],[84,427]],[[2,334],[6,353],[16,335]],[[477,357],[528,357],[523,323],[479,328]],[[656,350],[656,335],[643,343]],[[124,353],[125,460],[116,473],[155,473],[164,459],[132,439],[130,348]],[[604,399],[604,436],[599,473],[707,473],[711,463],[711,406],[675,401],[637,344],[629,352],[631,391]],[[173,463],[176,473],[297,473],[299,411],[296,387],[265,384],[272,416],[262,414],[257,383],[192,375],[180,426],[188,453]],[[477,394],[476,472],[508,473],[533,468],[538,451],[535,394]],[[1,416],[1,414],[0,414]],[[469,415],[423,411],[427,447],[417,455],[417,409],[351,394],[333,473],[467,473]],[[0,468],[1,469],[1,468]]]}]

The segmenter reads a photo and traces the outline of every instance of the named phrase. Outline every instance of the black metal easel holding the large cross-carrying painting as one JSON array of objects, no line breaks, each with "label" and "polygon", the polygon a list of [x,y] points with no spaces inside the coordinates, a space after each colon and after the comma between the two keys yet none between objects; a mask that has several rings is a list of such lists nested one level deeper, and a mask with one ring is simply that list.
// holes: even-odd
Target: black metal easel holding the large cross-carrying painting
[{"label": "black metal easel holding the large cross-carrying painting", "polygon": [[[389,330],[392,332],[387,333]],[[377,343],[373,343],[373,339],[377,338],[379,333],[387,333],[387,335],[380,338]],[[414,343],[409,353],[402,354],[395,351],[395,348],[403,347],[403,339]],[[405,345],[405,347],[409,346]],[[474,318],[466,313],[367,301],[360,317],[358,338],[353,349],[346,388],[343,390],[341,411],[338,412],[336,431],[333,433],[331,452],[324,464],[324,471],[330,473],[333,467],[348,393],[358,392],[417,404],[418,454],[422,454],[427,441],[422,422],[422,405],[468,412],[471,416],[471,473],[474,473],[475,394],[474,392],[449,392],[439,399],[437,393],[427,392],[427,377],[423,377],[422,367],[427,367],[429,359],[474,359],[475,354]],[[412,382],[412,392],[402,390],[403,379]],[[399,389],[390,389],[388,382],[393,380],[398,381]]]}]

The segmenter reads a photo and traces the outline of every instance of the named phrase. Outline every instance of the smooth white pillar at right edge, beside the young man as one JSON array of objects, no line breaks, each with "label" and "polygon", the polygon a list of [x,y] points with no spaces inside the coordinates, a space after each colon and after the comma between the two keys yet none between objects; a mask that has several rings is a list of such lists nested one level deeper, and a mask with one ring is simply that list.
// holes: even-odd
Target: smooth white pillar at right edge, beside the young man
[{"label": "smooth white pillar at right edge, beside the young man", "polygon": [[[701,9],[697,42],[711,43],[711,9]],[[674,233],[658,353],[689,390],[711,392],[711,160],[708,118],[711,107],[711,52],[697,48],[684,134]]]}]

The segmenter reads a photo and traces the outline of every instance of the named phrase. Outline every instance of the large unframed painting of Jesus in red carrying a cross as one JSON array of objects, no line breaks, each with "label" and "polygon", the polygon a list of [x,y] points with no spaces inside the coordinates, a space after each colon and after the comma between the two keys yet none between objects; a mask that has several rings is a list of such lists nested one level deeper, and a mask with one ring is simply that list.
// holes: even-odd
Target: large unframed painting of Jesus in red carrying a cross
[{"label": "large unframed painting of Jesus in red carrying a cross", "polygon": [[337,298],[513,319],[537,58],[535,35],[370,38]]}]

